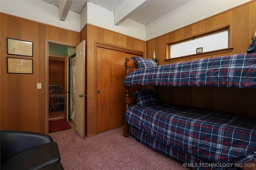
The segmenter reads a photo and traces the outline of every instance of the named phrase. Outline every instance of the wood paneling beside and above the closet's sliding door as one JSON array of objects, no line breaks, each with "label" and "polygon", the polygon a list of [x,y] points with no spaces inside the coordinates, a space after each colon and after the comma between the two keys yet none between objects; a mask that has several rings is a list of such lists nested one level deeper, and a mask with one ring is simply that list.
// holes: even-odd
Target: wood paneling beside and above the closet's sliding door
[{"label": "wood paneling beside and above the closet's sliding door", "polygon": [[[96,43],[106,43],[113,47],[120,47],[134,51],[145,51],[145,41],[128,37],[101,27],[87,24],[81,31],[81,39],[87,40],[86,44],[86,62],[87,62],[87,119],[86,119],[86,136],[90,137],[97,133],[96,127]],[[125,72],[125,70],[124,70]]]}]

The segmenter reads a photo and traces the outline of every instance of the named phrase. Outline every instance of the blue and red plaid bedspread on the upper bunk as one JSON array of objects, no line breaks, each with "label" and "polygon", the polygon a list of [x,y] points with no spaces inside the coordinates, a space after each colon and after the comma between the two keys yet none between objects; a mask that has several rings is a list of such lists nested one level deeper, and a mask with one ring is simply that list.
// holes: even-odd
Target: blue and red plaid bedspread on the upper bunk
[{"label": "blue and red plaid bedspread on the upper bunk", "polygon": [[256,53],[139,68],[123,82],[135,85],[256,87]]}]

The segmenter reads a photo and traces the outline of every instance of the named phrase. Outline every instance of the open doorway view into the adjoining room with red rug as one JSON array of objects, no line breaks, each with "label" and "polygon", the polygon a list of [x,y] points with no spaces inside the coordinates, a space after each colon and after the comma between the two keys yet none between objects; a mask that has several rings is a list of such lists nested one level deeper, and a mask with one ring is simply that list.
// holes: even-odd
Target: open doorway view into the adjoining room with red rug
[{"label": "open doorway view into the adjoining room with red rug", "polygon": [[[55,133],[71,129],[72,125],[75,126],[70,119],[73,106],[70,96],[70,84],[72,85],[70,62],[75,56],[76,48],[53,43],[49,43],[48,48],[48,121],[49,133]],[[60,125],[60,123],[64,123],[64,125]],[[66,129],[65,123],[70,124]]]}]

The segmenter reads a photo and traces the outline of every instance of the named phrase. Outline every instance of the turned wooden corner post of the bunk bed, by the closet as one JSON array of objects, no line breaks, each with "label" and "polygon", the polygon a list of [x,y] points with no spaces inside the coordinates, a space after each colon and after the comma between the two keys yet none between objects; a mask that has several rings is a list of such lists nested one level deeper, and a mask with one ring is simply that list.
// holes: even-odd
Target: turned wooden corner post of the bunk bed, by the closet
[{"label": "turned wooden corner post of the bunk bed, by the closet", "polygon": [[[129,57],[126,57],[126,62],[124,63],[125,66],[125,76],[127,76],[130,73],[130,67],[127,65],[127,62],[130,61]],[[130,106],[129,97],[130,97],[130,87],[124,87],[125,88],[125,98],[124,98],[124,105],[125,105],[125,111]],[[130,135],[130,125],[124,121],[124,137],[128,137]]]}]

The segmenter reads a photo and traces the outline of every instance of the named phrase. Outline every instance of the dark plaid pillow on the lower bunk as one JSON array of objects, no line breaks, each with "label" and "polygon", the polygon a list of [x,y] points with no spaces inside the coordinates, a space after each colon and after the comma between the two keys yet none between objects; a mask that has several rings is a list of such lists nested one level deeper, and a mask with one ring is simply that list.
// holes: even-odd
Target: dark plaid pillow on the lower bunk
[{"label": "dark plaid pillow on the lower bunk", "polygon": [[152,89],[150,90],[137,90],[133,93],[136,102],[140,106],[147,106],[159,103],[158,98]]}]

